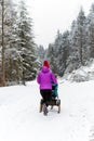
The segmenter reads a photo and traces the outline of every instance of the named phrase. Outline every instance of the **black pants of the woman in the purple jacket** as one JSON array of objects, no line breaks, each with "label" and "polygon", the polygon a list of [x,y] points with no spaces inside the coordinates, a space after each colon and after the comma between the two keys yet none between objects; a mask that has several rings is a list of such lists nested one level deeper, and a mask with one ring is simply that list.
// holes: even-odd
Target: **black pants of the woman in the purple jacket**
[{"label": "black pants of the woman in the purple jacket", "polygon": [[43,98],[43,103],[46,104],[46,106],[49,105],[49,102],[52,99],[52,90],[45,89],[45,90],[40,90],[40,93]]}]

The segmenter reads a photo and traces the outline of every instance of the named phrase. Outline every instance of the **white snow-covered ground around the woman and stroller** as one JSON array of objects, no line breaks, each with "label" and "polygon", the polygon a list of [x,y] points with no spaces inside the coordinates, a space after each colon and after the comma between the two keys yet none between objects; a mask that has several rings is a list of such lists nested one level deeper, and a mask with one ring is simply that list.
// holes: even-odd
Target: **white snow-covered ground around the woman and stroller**
[{"label": "white snow-covered ground around the woman and stroller", "polygon": [[0,141],[94,141],[94,81],[58,79],[61,113],[39,113],[36,80],[0,88]]}]

